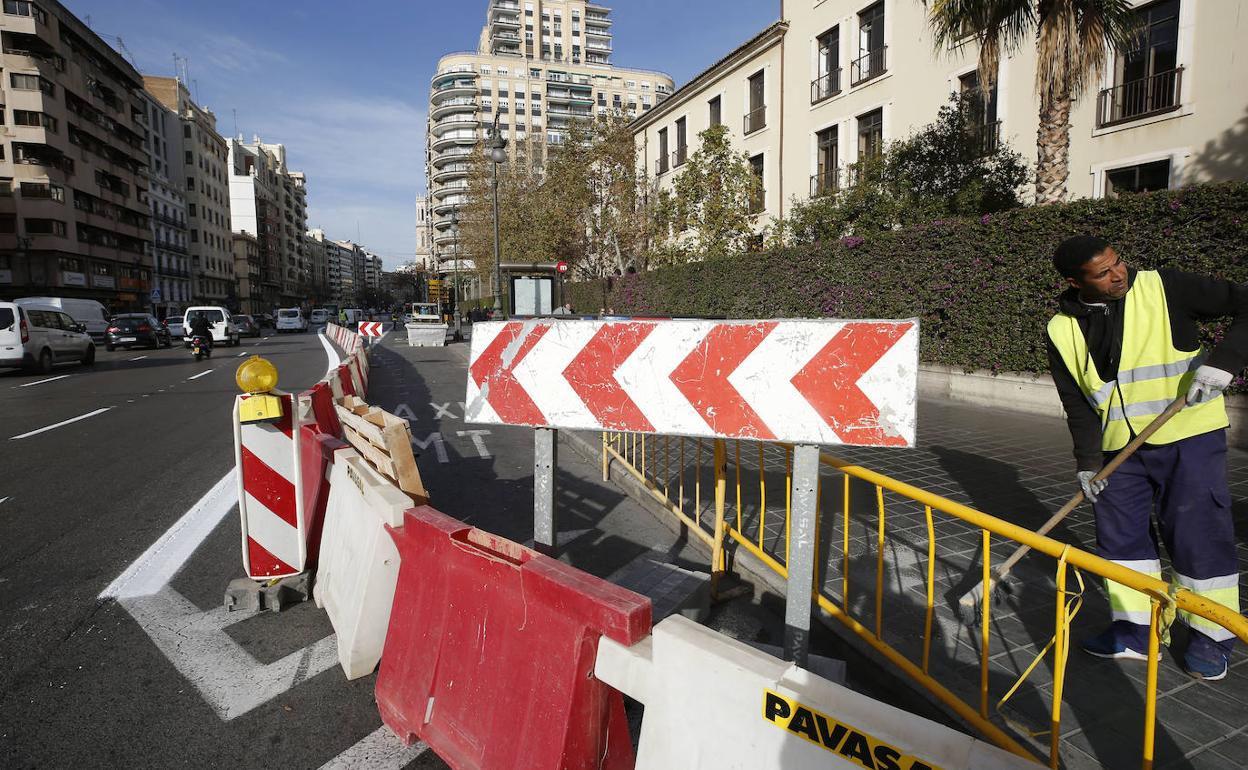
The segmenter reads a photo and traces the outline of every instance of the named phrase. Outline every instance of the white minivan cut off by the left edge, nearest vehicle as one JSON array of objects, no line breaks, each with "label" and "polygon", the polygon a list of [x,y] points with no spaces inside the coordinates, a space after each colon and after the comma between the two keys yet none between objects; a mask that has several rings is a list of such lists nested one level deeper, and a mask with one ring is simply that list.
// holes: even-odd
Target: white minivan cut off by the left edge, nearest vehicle
[{"label": "white minivan cut off by the left edge, nearest vehicle", "polygon": [[0,367],[50,372],[62,361],[95,363],[85,324],[50,305],[0,302]]}]

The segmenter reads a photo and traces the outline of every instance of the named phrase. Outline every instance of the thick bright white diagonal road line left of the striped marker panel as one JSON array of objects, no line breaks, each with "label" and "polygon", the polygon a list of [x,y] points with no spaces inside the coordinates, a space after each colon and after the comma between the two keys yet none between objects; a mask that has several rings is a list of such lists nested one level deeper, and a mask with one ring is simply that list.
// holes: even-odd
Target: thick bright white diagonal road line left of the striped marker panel
[{"label": "thick bright white diagonal road line left of the striped marker panel", "polygon": [[117,575],[109,588],[100,592],[100,599],[129,599],[155,594],[181,569],[237,502],[238,475],[236,470],[230,470],[141,557]]}]

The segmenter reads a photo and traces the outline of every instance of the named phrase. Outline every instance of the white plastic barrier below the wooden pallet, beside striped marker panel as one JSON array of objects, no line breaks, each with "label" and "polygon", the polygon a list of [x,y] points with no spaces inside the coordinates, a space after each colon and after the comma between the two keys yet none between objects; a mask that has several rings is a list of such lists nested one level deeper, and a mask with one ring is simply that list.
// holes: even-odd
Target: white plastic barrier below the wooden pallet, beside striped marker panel
[{"label": "white plastic barrier below the wooden pallet, beside striped marker panel", "polygon": [[403,525],[412,499],[353,449],[339,449],[329,475],[314,599],[338,634],[347,679],[367,676],[382,659],[399,557],[386,524]]}]

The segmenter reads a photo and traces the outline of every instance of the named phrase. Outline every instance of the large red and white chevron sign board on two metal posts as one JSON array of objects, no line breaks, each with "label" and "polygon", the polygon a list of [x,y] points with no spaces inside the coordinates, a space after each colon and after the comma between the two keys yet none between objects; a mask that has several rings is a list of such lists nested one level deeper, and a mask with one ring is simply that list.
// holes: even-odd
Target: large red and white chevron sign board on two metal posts
[{"label": "large red and white chevron sign board on two metal posts", "polygon": [[919,321],[473,324],[466,419],[911,447]]}]

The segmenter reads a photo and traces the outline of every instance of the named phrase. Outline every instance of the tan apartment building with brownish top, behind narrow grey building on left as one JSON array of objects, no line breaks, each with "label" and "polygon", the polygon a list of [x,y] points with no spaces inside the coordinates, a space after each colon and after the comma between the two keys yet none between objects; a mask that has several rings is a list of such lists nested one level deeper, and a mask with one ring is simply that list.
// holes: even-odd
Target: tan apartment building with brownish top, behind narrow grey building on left
[{"label": "tan apartment building with brownish top, behind narrow grey building on left", "polygon": [[144,86],[181,122],[182,157],[180,165],[175,160],[170,178],[185,182],[193,302],[236,307],[228,152],[226,140],[217,132],[217,117],[197,105],[177,77],[144,75]]}]

